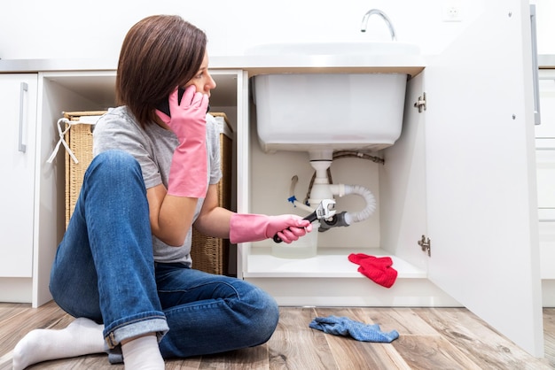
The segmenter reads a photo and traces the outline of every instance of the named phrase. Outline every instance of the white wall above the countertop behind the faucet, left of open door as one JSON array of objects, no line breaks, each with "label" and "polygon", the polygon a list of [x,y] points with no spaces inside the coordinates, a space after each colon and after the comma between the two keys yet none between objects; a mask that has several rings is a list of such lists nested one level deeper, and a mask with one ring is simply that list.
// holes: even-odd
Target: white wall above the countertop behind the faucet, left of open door
[{"label": "white wall above the countertop behind the faucet, left of open door", "polygon": [[[157,13],[179,14],[204,29],[211,55],[238,55],[258,43],[387,39],[387,28],[371,8],[387,12],[398,39],[441,51],[476,18],[486,0],[459,0],[462,22],[444,22],[447,0],[4,0],[0,12],[0,58],[117,58],[121,41],[137,20]],[[545,0],[543,0],[545,1]],[[372,31],[372,32],[370,32]]]}]

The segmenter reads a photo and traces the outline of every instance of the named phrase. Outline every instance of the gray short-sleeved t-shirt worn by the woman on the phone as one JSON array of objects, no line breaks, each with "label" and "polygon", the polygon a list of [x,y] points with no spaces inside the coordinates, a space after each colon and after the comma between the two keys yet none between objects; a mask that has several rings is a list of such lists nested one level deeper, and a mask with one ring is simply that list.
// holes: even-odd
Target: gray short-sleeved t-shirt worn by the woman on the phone
[{"label": "gray short-sleeved t-shirt worn by the woman on the phone", "polygon": [[[171,160],[179,144],[177,136],[157,124],[140,127],[125,106],[110,109],[98,119],[93,131],[93,154],[106,150],[124,150],[135,157],[143,171],[146,189],[163,183],[168,188]],[[214,117],[207,114],[207,183],[216,184],[222,178],[220,166],[220,129]],[[204,198],[199,198],[193,222],[199,216]],[[192,266],[192,230],[181,247],[172,247],[152,235],[154,260],[157,262],[182,262]]]}]

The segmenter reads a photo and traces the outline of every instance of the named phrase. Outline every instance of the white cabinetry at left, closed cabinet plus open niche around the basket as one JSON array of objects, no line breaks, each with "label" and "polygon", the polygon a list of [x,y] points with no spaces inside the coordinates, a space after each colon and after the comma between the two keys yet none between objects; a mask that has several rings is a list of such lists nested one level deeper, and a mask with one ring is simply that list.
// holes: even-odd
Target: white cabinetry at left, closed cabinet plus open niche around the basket
[{"label": "white cabinetry at left, closed cabinet plus open niche around the basket", "polygon": [[[211,73],[219,88],[210,100],[212,110],[225,112],[235,125],[243,119],[238,108],[243,104],[243,72]],[[59,140],[56,122],[63,112],[113,106],[114,84],[113,70],[0,73],[0,302],[38,306],[51,300],[51,265],[66,213],[63,147],[53,163],[47,162]]]}]

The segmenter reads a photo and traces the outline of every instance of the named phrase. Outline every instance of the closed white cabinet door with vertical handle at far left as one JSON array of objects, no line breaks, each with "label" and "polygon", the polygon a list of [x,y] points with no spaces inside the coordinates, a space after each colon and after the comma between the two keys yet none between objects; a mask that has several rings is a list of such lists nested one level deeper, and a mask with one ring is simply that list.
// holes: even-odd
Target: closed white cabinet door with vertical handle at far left
[{"label": "closed white cabinet door with vertical handle at far left", "polygon": [[31,277],[35,203],[36,74],[0,74],[0,277]]}]

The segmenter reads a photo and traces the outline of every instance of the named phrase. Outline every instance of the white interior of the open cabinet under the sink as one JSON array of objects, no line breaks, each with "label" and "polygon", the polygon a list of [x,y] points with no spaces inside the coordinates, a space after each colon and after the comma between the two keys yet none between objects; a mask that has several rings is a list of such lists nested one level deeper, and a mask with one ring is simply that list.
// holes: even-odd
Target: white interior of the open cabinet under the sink
[{"label": "white interior of the open cabinet under the sink", "polygon": [[[269,289],[280,304],[293,305],[460,305],[427,279],[427,251],[418,244],[426,235],[426,168],[424,127],[412,102],[421,93],[422,78],[408,81],[404,106],[403,130],[397,142],[371,152],[383,158],[376,163],[363,158],[339,158],[330,168],[334,184],[361,185],[377,199],[377,209],[368,220],[349,227],[334,227],[318,233],[318,253],[314,258],[277,258],[271,254],[272,240],[245,243],[239,272],[249,281]],[[248,125],[248,163],[250,179],[246,197],[250,212],[265,214],[307,211],[288,202],[293,176],[298,176],[294,195],[302,201],[309,189],[314,169],[304,151],[262,150],[257,135],[255,105],[250,105]],[[340,130],[340,125],[338,125]],[[242,146],[242,145],[241,145]],[[336,210],[358,211],[361,197],[336,197]],[[316,230],[313,232],[317,232]],[[397,282],[384,289],[357,272],[348,261],[353,252],[390,256],[398,271]],[[313,279],[328,284],[323,295],[315,290]],[[290,289],[283,289],[284,281]],[[318,283],[319,284],[319,283]],[[358,294],[349,289],[360,289]]]}]

